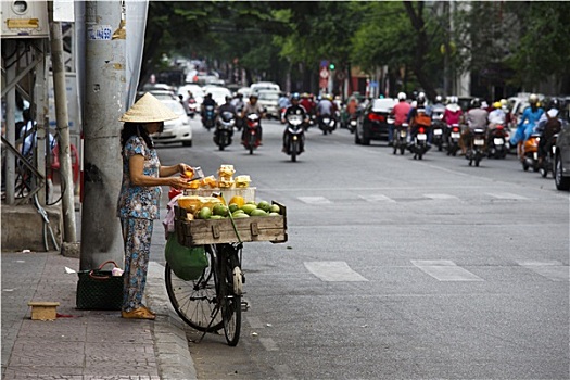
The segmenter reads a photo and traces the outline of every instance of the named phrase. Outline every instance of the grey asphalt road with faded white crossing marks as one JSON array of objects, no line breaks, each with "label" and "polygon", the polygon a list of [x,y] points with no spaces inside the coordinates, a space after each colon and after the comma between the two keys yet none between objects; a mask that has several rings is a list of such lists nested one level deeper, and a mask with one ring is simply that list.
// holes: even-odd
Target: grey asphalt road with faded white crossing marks
[{"label": "grey asphalt road with faded white crossing marks", "polygon": [[552,179],[514,156],[394,156],[346,130],[309,130],[291,163],[281,132],[265,123],[252,156],[197,124],[193,148],[160,151],[206,174],[233,164],[288,206],[287,243],[245,246],[239,345],[190,343],[199,378],[570,378],[569,198]]}]

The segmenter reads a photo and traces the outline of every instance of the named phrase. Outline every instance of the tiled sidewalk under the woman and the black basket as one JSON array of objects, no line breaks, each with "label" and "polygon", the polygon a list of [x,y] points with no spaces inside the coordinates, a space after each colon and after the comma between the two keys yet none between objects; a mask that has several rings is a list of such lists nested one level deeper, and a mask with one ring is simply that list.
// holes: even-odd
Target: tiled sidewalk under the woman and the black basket
[{"label": "tiled sidewalk under the woman and the black basket", "polygon": [[[147,304],[156,320],[75,308],[79,259],[59,252],[1,253],[2,379],[195,379],[183,322],[151,262]],[[29,301],[59,302],[54,321],[30,319]]]}]

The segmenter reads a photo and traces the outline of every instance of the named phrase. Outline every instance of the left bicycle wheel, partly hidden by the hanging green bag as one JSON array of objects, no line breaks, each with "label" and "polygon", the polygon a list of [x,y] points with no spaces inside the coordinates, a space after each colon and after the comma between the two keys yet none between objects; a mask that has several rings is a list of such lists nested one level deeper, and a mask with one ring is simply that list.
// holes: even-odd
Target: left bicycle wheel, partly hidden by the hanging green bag
[{"label": "left bicycle wheel, partly hidden by the hanging green bag", "polygon": [[[198,280],[178,278],[166,263],[164,279],[174,309],[185,322],[199,331],[214,332],[223,327],[221,314],[216,311],[216,288],[212,267],[215,252],[206,245],[210,266]],[[214,320],[212,320],[214,318]]]}]

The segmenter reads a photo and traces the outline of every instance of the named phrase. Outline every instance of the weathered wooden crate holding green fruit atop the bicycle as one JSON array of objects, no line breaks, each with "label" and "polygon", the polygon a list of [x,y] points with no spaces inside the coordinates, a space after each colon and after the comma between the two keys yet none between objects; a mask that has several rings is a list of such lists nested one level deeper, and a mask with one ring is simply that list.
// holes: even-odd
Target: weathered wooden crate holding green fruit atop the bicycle
[{"label": "weathered wooden crate holding green fruit atop the bicycle", "polygon": [[[283,243],[287,241],[287,208],[273,201],[281,208],[280,216],[252,216],[233,219],[241,241],[270,241]],[[178,242],[194,246],[202,244],[218,244],[238,242],[236,230],[227,219],[186,219],[185,208],[175,206],[175,229]]]}]

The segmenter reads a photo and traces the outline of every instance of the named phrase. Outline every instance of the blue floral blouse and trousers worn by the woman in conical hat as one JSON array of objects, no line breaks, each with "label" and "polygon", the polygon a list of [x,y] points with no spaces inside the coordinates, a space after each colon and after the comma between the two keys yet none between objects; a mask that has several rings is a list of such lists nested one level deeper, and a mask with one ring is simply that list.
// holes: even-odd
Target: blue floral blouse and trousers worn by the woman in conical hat
[{"label": "blue floral blouse and trousers worn by the woman in conical hat", "polygon": [[147,283],[150,248],[154,219],[160,217],[160,186],[135,186],[130,182],[129,160],[136,154],[144,156],[143,174],[159,177],[161,163],[155,149],[150,149],[141,137],[131,136],[123,150],[123,181],[117,202],[125,241],[125,284],[123,311],[142,306]]}]

